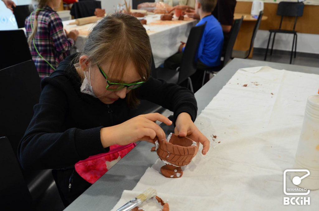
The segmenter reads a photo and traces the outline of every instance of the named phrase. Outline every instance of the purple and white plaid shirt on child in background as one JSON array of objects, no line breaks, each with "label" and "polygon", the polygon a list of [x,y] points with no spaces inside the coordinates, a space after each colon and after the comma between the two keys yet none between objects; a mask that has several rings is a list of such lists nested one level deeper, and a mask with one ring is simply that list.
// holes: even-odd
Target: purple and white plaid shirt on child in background
[{"label": "purple and white plaid shirt on child in background", "polygon": [[[35,11],[26,18],[25,26],[27,37],[32,33],[30,18],[33,24]],[[38,28],[34,36],[35,46],[43,58],[56,68],[66,56],[70,55],[70,48],[74,45],[74,40],[65,36],[61,18],[56,11],[50,7],[46,6],[44,10],[41,10],[37,20]],[[40,77],[49,76],[54,69],[38,55],[33,46],[33,42],[30,51]]]}]

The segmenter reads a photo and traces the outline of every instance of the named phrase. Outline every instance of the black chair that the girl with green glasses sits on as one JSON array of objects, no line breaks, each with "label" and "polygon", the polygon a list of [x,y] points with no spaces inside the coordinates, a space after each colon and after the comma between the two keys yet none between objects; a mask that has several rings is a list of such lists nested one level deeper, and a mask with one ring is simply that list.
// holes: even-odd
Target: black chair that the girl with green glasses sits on
[{"label": "black chair that the girl with green glasses sits on", "polygon": [[[17,148],[33,116],[33,106],[39,102],[40,77],[32,60],[0,70],[0,137],[9,138],[17,157]],[[39,210],[63,209],[51,170],[22,171]],[[53,202],[54,201],[54,202]],[[54,205],[54,206],[53,206]],[[41,208],[40,208],[41,207]]]}]

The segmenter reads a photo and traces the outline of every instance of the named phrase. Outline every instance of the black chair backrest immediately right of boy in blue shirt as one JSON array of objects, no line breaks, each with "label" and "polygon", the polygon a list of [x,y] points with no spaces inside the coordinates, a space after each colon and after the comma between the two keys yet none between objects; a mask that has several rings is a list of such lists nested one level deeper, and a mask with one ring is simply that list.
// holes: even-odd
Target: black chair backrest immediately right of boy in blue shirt
[{"label": "black chair backrest immediately right of boy in blue shirt", "polygon": [[224,61],[223,61],[223,66],[225,66],[227,64],[227,62],[232,57],[233,47],[234,47],[234,44],[235,44],[237,35],[239,33],[239,30],[240,30],[241,23],[242,23],[243,19],[244,19],[243,16],[241,17],[241,19],[236,19],[234,21],[232,29],[230,30],[229,40],[228,40],[228,43],[227,43],[227,46],[226,46],[226,52],[225,52]]}]

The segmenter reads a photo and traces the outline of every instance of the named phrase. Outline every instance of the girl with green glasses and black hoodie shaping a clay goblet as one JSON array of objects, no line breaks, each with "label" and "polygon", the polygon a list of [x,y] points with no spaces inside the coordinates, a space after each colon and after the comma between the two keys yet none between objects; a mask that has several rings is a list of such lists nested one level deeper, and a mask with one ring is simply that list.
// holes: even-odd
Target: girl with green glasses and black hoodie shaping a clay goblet
[{"label": "girl with green glasses and black hoodie shaping a clay goblet", "polygon": [[193,123],[194,94],[150,76],[151,61],[150,40],[140,21],[113,14],[94,26],[83,52],[67,57],[41,81],[40,101],[18,156],[24,169],[56,169],[66,205],[91,185],[74,170],[78,161],[106,153],[110,146],[165,139],[155,123],[173,124],[165,116],[130,118],[140,99],[173,111],[175,134],[188,135],[203,144],[202,154],[208,152],[209,140]]}]

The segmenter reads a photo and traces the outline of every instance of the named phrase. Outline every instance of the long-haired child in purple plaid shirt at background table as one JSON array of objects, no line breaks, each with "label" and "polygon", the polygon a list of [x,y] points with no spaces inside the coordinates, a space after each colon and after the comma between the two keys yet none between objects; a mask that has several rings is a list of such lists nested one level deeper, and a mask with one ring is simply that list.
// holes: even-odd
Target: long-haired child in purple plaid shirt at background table
[{"label": "long-haired child in purple plaid shirt at background table", "polygon": [[70,48],[78,37],[77,30],[64,35],[62,20],[53,10],[60,2],[61,0],[38,0],[37,9],[26,18],[26,36],[41,78],[49,76],[70,55]]}]

